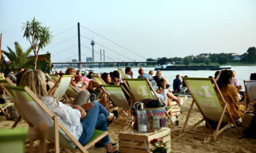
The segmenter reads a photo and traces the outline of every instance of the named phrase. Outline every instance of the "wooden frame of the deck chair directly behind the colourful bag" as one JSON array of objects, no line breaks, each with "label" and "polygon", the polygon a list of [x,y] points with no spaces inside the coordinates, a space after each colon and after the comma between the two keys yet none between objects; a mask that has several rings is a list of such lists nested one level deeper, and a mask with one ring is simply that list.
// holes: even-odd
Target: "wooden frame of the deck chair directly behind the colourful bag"
[{"label": "wooden frame of the deck chair directly behind the colourful bag", "polygon": [[[131,103],[134,103],[134,102],[136,102],[136,101],[135,101],[135,98],[134,98],[134,96],[133,96],[133,94],[132,94],[133,92],[131,91],[130,86],[127,84],[127,81],[129,81],[129,80],[131,80],[131,81],[135,81],[135,80],[136,80],[136,81],[146,81],[147,84],[148,84],[148,86],[150,86],[150,89],[151,89],[152,92],[154,93],[155,97],[157,98],[157,100],[159,100],[160,103],[162,103],[161,100],[159,99],[158,95],[157,95],[157,92],[155,92],[155,90],[154,90],[154,88],[152,87],[150,81],[148,81],[148,78],[123,79],[123,83],[124,83],[125,86],[127,87],[127,90],[129,90],[130,94],[132,95],[132,99],[133,99],[133,100],[132,100]],[[150,94],[152,94],[152,93],[150,92]],[[153,96],[153,97],[154,97],[154,96]],[[168,119],[170,119],[170,122],[173,124],[172,118],[170,118],[170,115],[169,115],[170,110],[172,110],[171,108],[172,108],[172,107],[168,107],[168,108],[167,108],[167,110],[165,111],[165,115],[168,117]]]}]

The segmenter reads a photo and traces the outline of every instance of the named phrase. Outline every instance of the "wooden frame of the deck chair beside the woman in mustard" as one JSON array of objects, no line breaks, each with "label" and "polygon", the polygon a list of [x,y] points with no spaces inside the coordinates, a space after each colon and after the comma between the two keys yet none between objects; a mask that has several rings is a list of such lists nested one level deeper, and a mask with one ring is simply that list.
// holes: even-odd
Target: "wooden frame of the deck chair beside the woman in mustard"
[{"label": "wooden frame of the deck chair beside the woman in mustard", "polygon": [[[185,121],[185,123],[184,123],[184,125],[183,125],[183,129],[182,129],[182,132],[181,132],[180,134],[182,134],[182,133],[199,134],[199,135],[201,135],[201,136],[211,137],[211,140],[214,140],[214,141],[215,141],[216,137],[217,137],[221,132],[223,132],[225,129],[229,128],[230,125],[233,124],[234,127],[235,127],[236,130],[237,130],[236,123],[234,122],[234,119],[233,119],[232,115],[230,114],[229,109],[227,108],[227,102],[226,102],[225,99],[223,98],[222,93],[221,93],[221,90],[219,89],[219,87],[218,87],[218,85],[217,85],[217,83],[216,83],[216,81],[215,81],[214,78],[212,78],[212,77],[211,77],[211,78],[188,78],[188,77],[182,77],[182,79],[183,79],[184,83],[186,84],[187,89],[189,90],[191,96],[193,97],[193,101],[192,101],[192,103],[191,103],[191,105],[190,105],[190,109],[189,109],[189,112],[188,112],[188,114],[187,114],[186,121]],[[195,123],[195,124],[192,126],[191,129],[195,128],[195,126],[199,125],[202,121],[205,121],[205,122],[207,123],[208,127],[209,127],[211,130],[213,130],[213,129],[211,128],[211,125],[209,125],[209,122],[208,122],[208,120],[207,120],[207,118],[206,118],[204,112],[201,110],[200,105],[198,104],[197,99],[195,99],[194,93],[192,92],[192,90],[191,90],[189,84],[187,83],[187,80],[197,80],[197,81],[209,81],[209,82],[213,82],[214,85],[212,85],[212,83],[211,83],[211,85],[215,88],[215,93],[216,93],[216,95],[218,96],[219,103],[221,104],[220,99],[223,101],[223,103],[225,103],[224,106],[221,105],[221,107],[222,107],[222,111],[221,111],[221,114],[220,114],[221,116],[219,117],[219,121],[218,121],[218,125],[217,125],[217,127],[216,127],[216,130],[214,130],[214,132],[213,132],[212,134],[197,133],[197,132],[191,132],[190,130],[186,130],[187,122],[189,121],[189,117],[190,117],[190,114],[191,114],[191,110],[192,110],[194,104],[197,105],[197,108],[198,108],[198,110],[200,111],[200,113],[201,113],[201,115],[202,115],[203,118],[202,118],[200,121],[198,121],[197,123]],[[227,110],[227,114],[225,114],[225,111],[226,111],[226,110]],[[231,119],[231,122],[227,123],[227,125],[225,125],[223,128],[220,129],[220,126],[221,126],[221,123],[222,123],[222,121],[223,121],[223,119],[224,119],[224,116],[225,116],[226,119],[227,119],[227,116],[229,116],[230,119]],[[237,133],[239,133],[238,130],[237,130]]]}]

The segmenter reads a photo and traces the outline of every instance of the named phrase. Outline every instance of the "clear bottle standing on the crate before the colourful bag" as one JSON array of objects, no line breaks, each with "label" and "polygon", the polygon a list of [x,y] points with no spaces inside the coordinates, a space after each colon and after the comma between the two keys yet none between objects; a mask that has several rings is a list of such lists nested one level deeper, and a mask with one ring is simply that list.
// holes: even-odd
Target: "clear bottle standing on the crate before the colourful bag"
[{"label": "clear bottle standing on the crate before the colourful bag", "polygon": [[140,104],[141,110],[137,111],[138,114],[138,133],[148,132],[148,118],[144,110],[144,104]]}]

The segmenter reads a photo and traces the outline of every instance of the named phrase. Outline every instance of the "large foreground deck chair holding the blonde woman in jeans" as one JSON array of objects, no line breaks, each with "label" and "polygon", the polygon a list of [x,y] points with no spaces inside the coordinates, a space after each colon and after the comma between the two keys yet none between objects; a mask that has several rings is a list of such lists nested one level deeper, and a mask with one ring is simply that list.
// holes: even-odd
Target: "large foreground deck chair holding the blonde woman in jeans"
[{"label": "large foreground deck chair holding the blonde woman in jeans", "polygon": [[[97,141],[101,140],[108,134],[108,132],[94,130],[93,137],[89,143],[83,146],[72,136],[72,134],[69,133],[65,126],[58,121],[58,116],[52,114],[52,112],[28,87],[6,86],[6,88],[12,90],[12,92],[15,94],[19,100],[22,111],[27,116],[27,119],[29,119],[31,122],[31,125],[38,128],[41,122],[45,122],[47,124],[47,140],[55,144],[55,152],[59,152],[60,147],[66,152],[76,150],[76,148],[72,147],[66,137],[76,144],[78,147],[78,150],[76,150],[77,152],[88,152],[87,149],[91,147],[91,145],[94,145]],[[65,133],[65,136],[60,130]]]}]

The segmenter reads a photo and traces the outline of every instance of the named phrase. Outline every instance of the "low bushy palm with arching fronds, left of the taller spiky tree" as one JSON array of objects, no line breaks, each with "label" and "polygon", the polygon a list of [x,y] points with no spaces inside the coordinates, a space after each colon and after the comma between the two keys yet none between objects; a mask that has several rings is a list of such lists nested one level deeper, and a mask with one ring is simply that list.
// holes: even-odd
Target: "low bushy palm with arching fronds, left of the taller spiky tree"
[{"label": "low bushy palm with arching fronds, left of the taller spiky tree", "polygon": [[25,68],[33,63],[31,60],[27,60],[27,56],[32,52],[32,48],[30,47],[26,52],[23,52],[22,46],[20,46],[18,42],[14,42],[14,44],[15,52],[7,46],[9,52],[3,50],[3,54],[5,54],[10,60],[9,70],[17,72],[20,67]]}]

